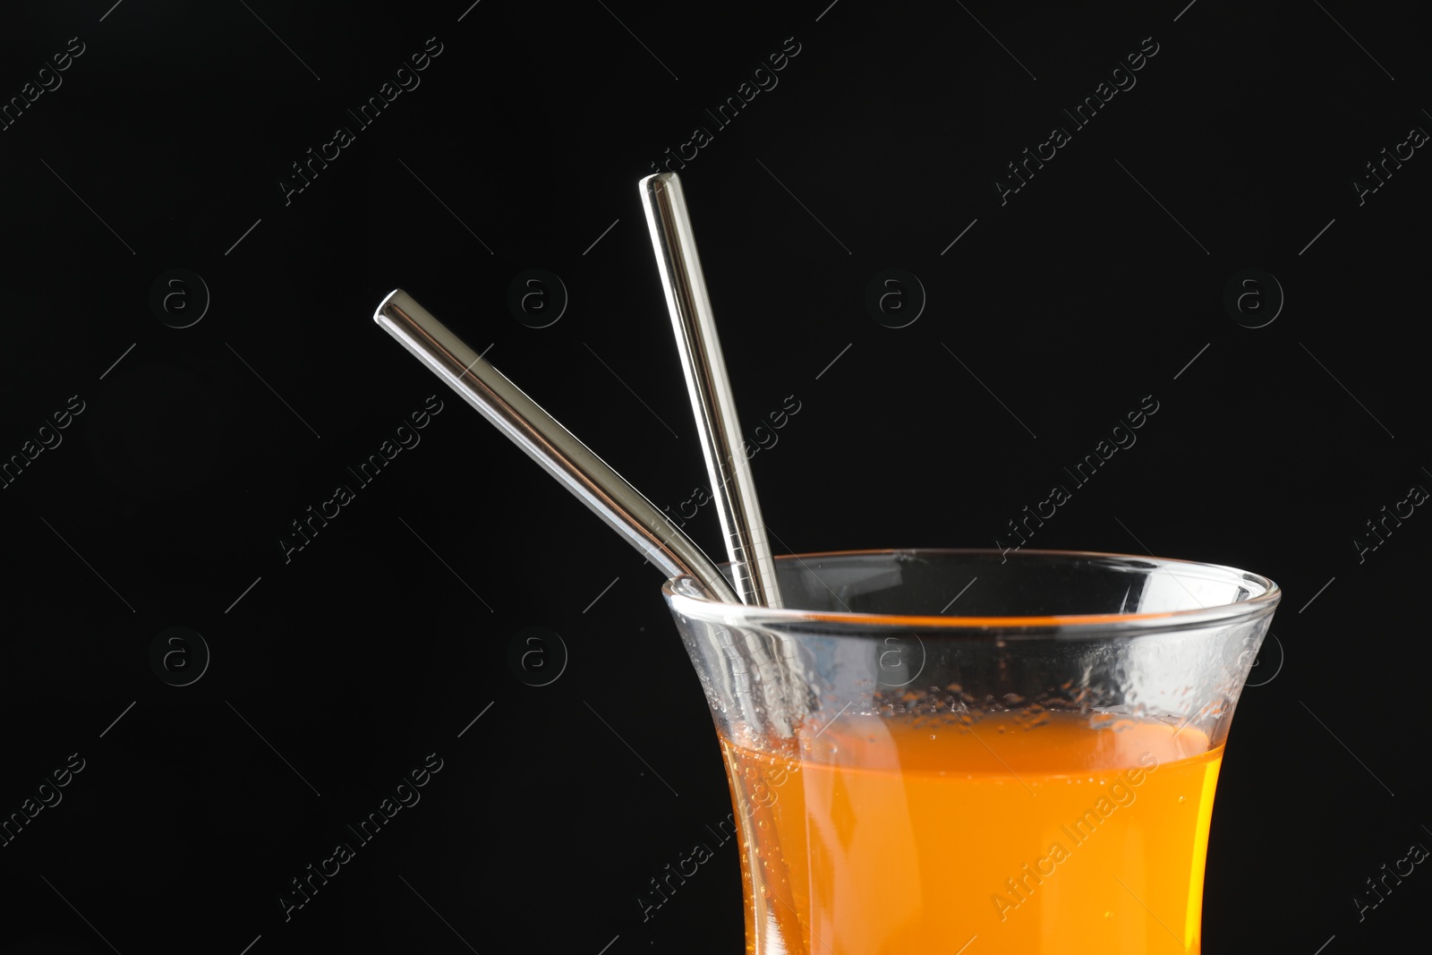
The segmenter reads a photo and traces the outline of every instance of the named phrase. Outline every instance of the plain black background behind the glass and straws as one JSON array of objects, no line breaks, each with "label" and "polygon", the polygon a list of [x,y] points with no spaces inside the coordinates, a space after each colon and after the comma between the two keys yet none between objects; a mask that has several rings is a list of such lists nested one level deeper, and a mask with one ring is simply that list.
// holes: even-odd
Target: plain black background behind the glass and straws
[{"label": "plain black background behind the glass and straws", "polygon": [[[1207,951],[1421,925],[1422,866],[1353,903],[1432,845],[1432,517],[1353,544],[1432,487],[1432,159],[1352,186],[1432,129],[1415,4],[826,1],[6,7],[0,96],[83,54],[0,132],[0,455],[84,409],[0,491],[0,813],[84,769],[0,848],[0,951],[740,951],[733,843],[636,902],[730,812],[660,576],[371,319],[407,289],[679,510],[706,478],[636,185],[695,126],[748,434],[799,402],[752,461],[773,548],[994,546],[1153,395],[1030,546],[1286,590],[1220,780]],[[359,127],[428,37],[421,84]],[[788,37],[779,84],[717,127]],[[1005,163],[1144,37],[1137,84],[1001,205]],[[285,202],[339,125],[352,145]],[[188,328],[192,282],[149,304],[175,268],[211,299]],[[547,328],[505,304],[528,268],[570,295]],[[928,299],[904,328],[865,306],[889,268]],[[1286,295],[1262,328],[1223,305],[1250,268]],[[421,442],[285,560],[432,394]],[[692,533],[719,547],[712,507]],[[176,626],[212,654],[182,687],[149,657]],[[566,649],[547,686],[508,664],[527,627]],[[285,921],[289,881],[428,753],[421,802]]]}]

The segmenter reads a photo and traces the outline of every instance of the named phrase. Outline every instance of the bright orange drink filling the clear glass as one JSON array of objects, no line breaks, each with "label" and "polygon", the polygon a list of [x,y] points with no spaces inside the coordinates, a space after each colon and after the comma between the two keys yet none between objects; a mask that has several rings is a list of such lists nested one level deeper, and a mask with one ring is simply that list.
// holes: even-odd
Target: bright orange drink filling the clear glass
[{"label": "bright orange drink filling the clear glass", "polygon": [[1197,952],[1223,747],[1160,722],[1015,716],[841,716],[802,732],[795,759],[723,737],[748,939],[765,925],[811,955]]}]

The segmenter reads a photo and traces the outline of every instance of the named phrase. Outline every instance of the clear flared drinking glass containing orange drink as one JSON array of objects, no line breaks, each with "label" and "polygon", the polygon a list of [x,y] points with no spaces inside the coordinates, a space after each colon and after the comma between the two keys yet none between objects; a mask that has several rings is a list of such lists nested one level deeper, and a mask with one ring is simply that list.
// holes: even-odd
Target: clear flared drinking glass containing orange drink
[{"label": "clear flared drinking glass containing orange drink", "polygon": [[775,564],[779,610],[663,587],[726,762],[750,955],[1199,952],[1273,581],[1031,550]]}]

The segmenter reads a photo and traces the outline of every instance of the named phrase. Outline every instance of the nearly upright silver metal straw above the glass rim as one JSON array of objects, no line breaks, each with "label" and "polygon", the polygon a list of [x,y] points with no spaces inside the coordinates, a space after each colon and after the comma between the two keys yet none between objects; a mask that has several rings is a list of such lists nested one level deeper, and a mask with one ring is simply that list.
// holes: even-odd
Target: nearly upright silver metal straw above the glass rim
[{"label": "nearly upright silver metal straw above the glass rim", "polygon": [[748,606],[780,607],[780,588],[766,543],[766,525],[760,520],[756,481],[740,440],[736,401],[726,377],[706,278],[696,255],[696,236],[682,180],[674,172],[657,173],[640,182],[640,192],[686,374],[686,391],[706,455],[706,474],[720,505],[717,513],[736,593]]}]

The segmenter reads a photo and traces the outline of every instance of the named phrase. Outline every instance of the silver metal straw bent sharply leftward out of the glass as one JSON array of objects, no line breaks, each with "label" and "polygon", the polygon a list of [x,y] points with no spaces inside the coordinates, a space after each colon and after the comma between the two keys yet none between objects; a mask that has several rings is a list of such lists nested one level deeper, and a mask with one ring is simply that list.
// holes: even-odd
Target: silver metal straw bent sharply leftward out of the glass
[{"label": "silver metal straw bent sharply leftward out of the glass", "polygon": [[693,577],[712,597],[737,601],[710,558],[660,508],[411,295],[394,289],[372,318],[667,577]]}]

